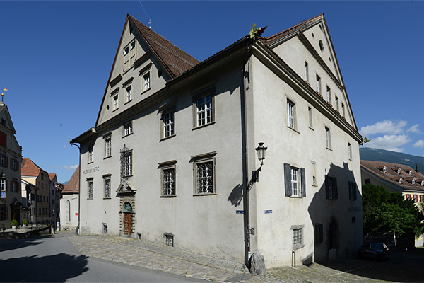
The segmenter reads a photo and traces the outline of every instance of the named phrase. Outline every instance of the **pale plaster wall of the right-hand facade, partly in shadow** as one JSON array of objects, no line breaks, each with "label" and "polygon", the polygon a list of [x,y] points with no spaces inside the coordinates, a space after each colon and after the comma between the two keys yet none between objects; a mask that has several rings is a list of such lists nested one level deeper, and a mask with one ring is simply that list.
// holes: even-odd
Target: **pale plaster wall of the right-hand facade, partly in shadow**
[{"label": "pale plaster wall of the right-hand facade, partly in shadow", "polygon": [[[311,256],[326,256],[326,230],[331,217],[340,228],[339,255],[355,252],[362,241],[362,211],[349,212],[349,207],[362,209],[358,200],[348,199],[348,182],[360,190],[360,159],[358,142],[329,120],[324,113],[302,98],[276,74],[256,58],[253,68],[254,144],[268,146],[260,181],[255,185],[257,233],[254,241],[264,255],[267,267],[292,264],[291,226],[304,225],[305,246],[297,250],[297,264]],[[288,128],[287,98],[295,103],[297,130]],[[308,106],[313,111],[313,129],[308,127]],[[331,129],[331,150],[326,149],[325,129]],[[348,159],[348,142],[352,144],[353,160]],[[312,163],[317,164],[317,187],[312,186]],[[256,161],[259,167],[259,161]],[[285,197],[283,163],[306,171],[304,198]],[[338,200],[326,200],[324,178],[327,173],[337,178]],[[264,214],[267,209],[272,214]],[[351,217],[355,216],[355,223]],[[324,224],[324,242],[314,246],[314,223]],[[276,252],[277,250],[277,252]]]}]

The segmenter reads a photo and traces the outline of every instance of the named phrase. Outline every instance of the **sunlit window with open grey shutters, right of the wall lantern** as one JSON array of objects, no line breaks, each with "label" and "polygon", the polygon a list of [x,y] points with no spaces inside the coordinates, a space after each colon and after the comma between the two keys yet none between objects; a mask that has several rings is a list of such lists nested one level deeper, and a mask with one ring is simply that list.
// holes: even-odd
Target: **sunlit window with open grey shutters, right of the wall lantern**
[{"label": "sunlit window with open grey shutters, right of the wall lantern", "polygon": [[305,168],[296,168],[284,163],[286,197],[306,197]]}]

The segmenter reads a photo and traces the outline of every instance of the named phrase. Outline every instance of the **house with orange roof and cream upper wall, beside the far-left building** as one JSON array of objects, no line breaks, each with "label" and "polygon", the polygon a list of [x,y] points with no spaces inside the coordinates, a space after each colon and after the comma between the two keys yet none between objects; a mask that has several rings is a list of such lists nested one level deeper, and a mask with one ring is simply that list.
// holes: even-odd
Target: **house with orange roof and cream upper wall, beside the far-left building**
[{"label": "house with orange roof and cream upper wall, beside the far-left building", "polygon": [[49,173],[42,170],[30,158],[22,160],[22,180],[35,186],[33,190],[35,202],[32,204],[34,209],[30,210],[29,219],[35,221],[49,221],[50,216],[50,180]]}]

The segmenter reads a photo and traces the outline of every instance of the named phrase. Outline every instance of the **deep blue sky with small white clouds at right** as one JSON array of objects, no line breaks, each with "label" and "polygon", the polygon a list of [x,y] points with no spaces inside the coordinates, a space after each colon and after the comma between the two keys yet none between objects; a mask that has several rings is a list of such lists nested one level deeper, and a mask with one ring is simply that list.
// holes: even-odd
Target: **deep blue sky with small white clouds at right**
[{"label": "deep blue sky with small white clouds at right", "polygon": [[360,132],[370,147],[424,154],[424,1],[0,1],[0,89],[23,146],[59,182],[95,125],[126,14],[199,60],[268,25],[324,13]]}]

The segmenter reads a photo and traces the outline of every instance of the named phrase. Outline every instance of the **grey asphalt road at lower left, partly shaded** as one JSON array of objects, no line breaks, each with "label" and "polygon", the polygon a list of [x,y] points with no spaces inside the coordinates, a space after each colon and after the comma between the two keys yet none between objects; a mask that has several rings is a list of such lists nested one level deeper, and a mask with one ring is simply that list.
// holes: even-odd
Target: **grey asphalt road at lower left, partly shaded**
[{"label": "grey asphalt road at lower left, partly shaded", "polygon": [[0,282],[203,282],[88,258],[66,237],[0,241]]}]

